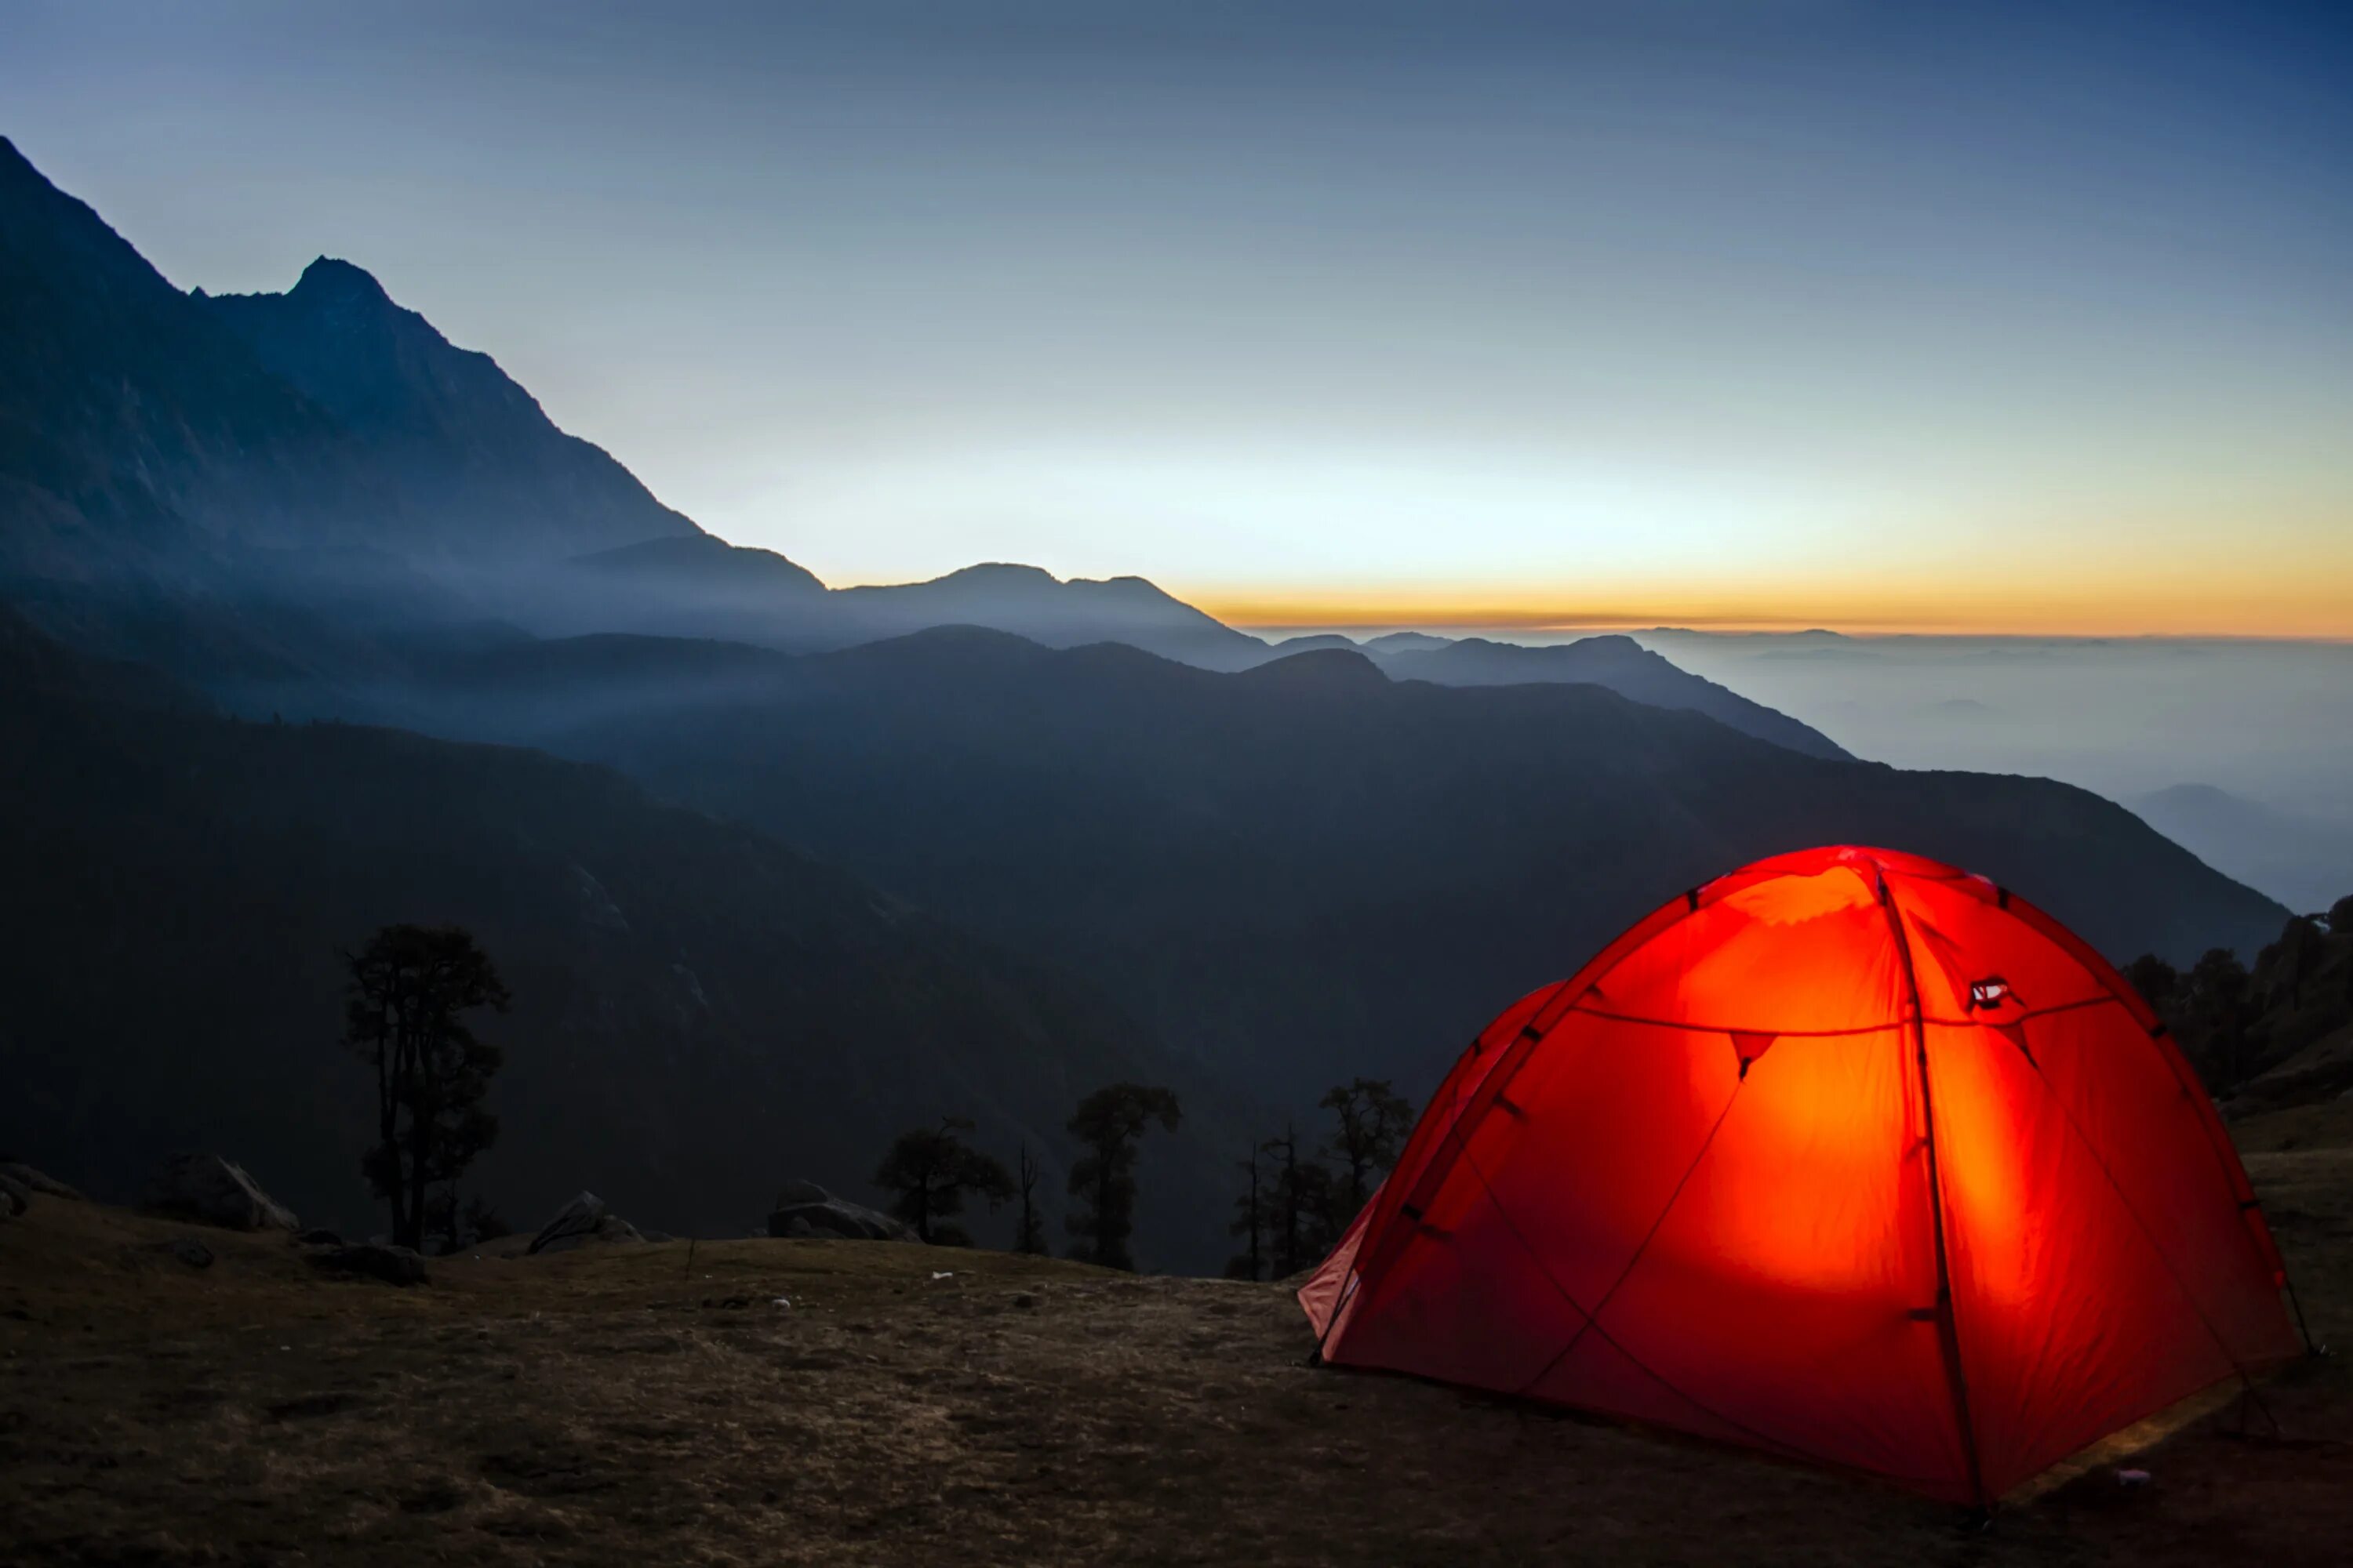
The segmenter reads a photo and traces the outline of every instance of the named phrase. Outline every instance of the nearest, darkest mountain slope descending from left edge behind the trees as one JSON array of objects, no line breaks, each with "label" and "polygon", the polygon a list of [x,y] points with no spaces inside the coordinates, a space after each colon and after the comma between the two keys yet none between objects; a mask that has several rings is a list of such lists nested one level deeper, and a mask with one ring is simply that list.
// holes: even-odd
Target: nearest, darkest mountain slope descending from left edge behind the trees
[{"label": "nearest, darkest mountain slope descending from left edge behind the trees", "polygon": [[744,1234],[786,1178],[864,1192],[941,1114],[1061,1166],[1078,1098],[1139,1077],[1188,1110],[1148,1154],[1139,1246],[1226,1255],[1249,1128],[1125,1009],[605,769],[212,717],[0,611],[0,1147],[99,1192],[209,1147],[365,1234],[336,947],[454,919],[515,992],[485,1023],[504,1131],[468,1185],[518,1222],[593,1187],[640,1225]]}]

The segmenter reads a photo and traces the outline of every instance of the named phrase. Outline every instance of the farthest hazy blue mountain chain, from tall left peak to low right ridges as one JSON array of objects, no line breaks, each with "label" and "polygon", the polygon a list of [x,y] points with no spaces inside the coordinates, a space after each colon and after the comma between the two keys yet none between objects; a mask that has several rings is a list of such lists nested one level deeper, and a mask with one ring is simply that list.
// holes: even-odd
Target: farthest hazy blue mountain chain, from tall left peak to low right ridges
[{"label": "farthest hazy blue mountain chain, from tall left peak to low right ridges", "polygon": [[[1207,670],[1355,646],[1268,649],[1132,576],[981,564],[828,590],[661,505],[358,266],[320,256],[285,294],[181,294],[5,141],[0,327],[0,597],[240,712],[369,712],[365,693],[431,649],[525,632],[809,651],[981,625]],[[1398,632],[1367,646],[1417,679],[1586,679],[1838,755],[1633,644]]]}]

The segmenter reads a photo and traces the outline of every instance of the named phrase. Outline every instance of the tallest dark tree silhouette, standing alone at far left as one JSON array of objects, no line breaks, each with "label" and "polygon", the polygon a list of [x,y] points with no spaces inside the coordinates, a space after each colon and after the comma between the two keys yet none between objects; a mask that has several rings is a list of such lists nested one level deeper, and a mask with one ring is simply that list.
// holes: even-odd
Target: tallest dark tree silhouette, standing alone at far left
[{"label": "tallest dark tree silhouette, standing alone at far left", "polygon": [[506,983],[459,926],[384,926],[344,964],[344,1044],[376,1072],[376,1147],[360,1168],[391,1204],[393,1239],[424,1248],[428,1192],[499,1135],[482,1095],[501,1053],[466,1013],[504,1013]]}]

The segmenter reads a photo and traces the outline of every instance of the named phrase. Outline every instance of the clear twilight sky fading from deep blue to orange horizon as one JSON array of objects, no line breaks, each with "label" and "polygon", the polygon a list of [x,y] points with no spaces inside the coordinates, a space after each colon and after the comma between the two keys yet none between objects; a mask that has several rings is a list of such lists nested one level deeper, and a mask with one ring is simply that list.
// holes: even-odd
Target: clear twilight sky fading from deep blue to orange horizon
[{"label": "clear twilight sky fading from deep blue to orange horizon", "polygon": [[2353,7],[71,5],[0,134],[351,259],[828,583],[2353,637]]}]

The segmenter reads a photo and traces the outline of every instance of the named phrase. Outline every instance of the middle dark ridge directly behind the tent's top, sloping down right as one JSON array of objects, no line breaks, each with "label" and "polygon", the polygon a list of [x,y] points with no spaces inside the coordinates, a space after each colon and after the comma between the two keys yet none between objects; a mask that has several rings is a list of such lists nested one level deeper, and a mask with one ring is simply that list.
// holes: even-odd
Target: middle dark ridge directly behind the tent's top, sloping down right
[{"label": "middle dark ridge directly behind the tent's top, sloping down right", "polygon": [[2082,790],[1809,757],[1593,684],[1391,682],[1351,651],[1221,675],[981,630],[800,658],[586,639],[456,661],[419,705],[767,825],[1271,1098],[1421,1091],[1499,999],[1819,842],[1984,870],[2115,957],[2285,919]]}]

